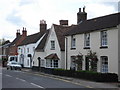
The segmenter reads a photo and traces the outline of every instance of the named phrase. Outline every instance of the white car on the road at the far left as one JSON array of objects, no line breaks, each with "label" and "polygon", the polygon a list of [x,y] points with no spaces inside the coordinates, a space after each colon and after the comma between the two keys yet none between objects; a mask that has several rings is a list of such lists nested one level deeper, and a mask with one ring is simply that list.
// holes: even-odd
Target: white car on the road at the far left
[{"label": "white car on the road at the far left", "polygon": [[7,70],[11,69],[11,70],[21,70],[22,66],[20,63],[16,62],[16,61],[10,61],[7,63]]}]

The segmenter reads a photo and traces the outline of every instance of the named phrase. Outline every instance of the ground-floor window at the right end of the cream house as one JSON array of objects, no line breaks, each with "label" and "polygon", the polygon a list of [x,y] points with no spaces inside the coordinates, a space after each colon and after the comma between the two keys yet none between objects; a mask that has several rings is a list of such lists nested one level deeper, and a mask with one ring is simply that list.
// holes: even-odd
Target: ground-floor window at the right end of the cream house
[{"label": "ground-floor window at the right end of the cream house", "polygon": [[101,56],[101,72],[108,73],[108,57]]}]

